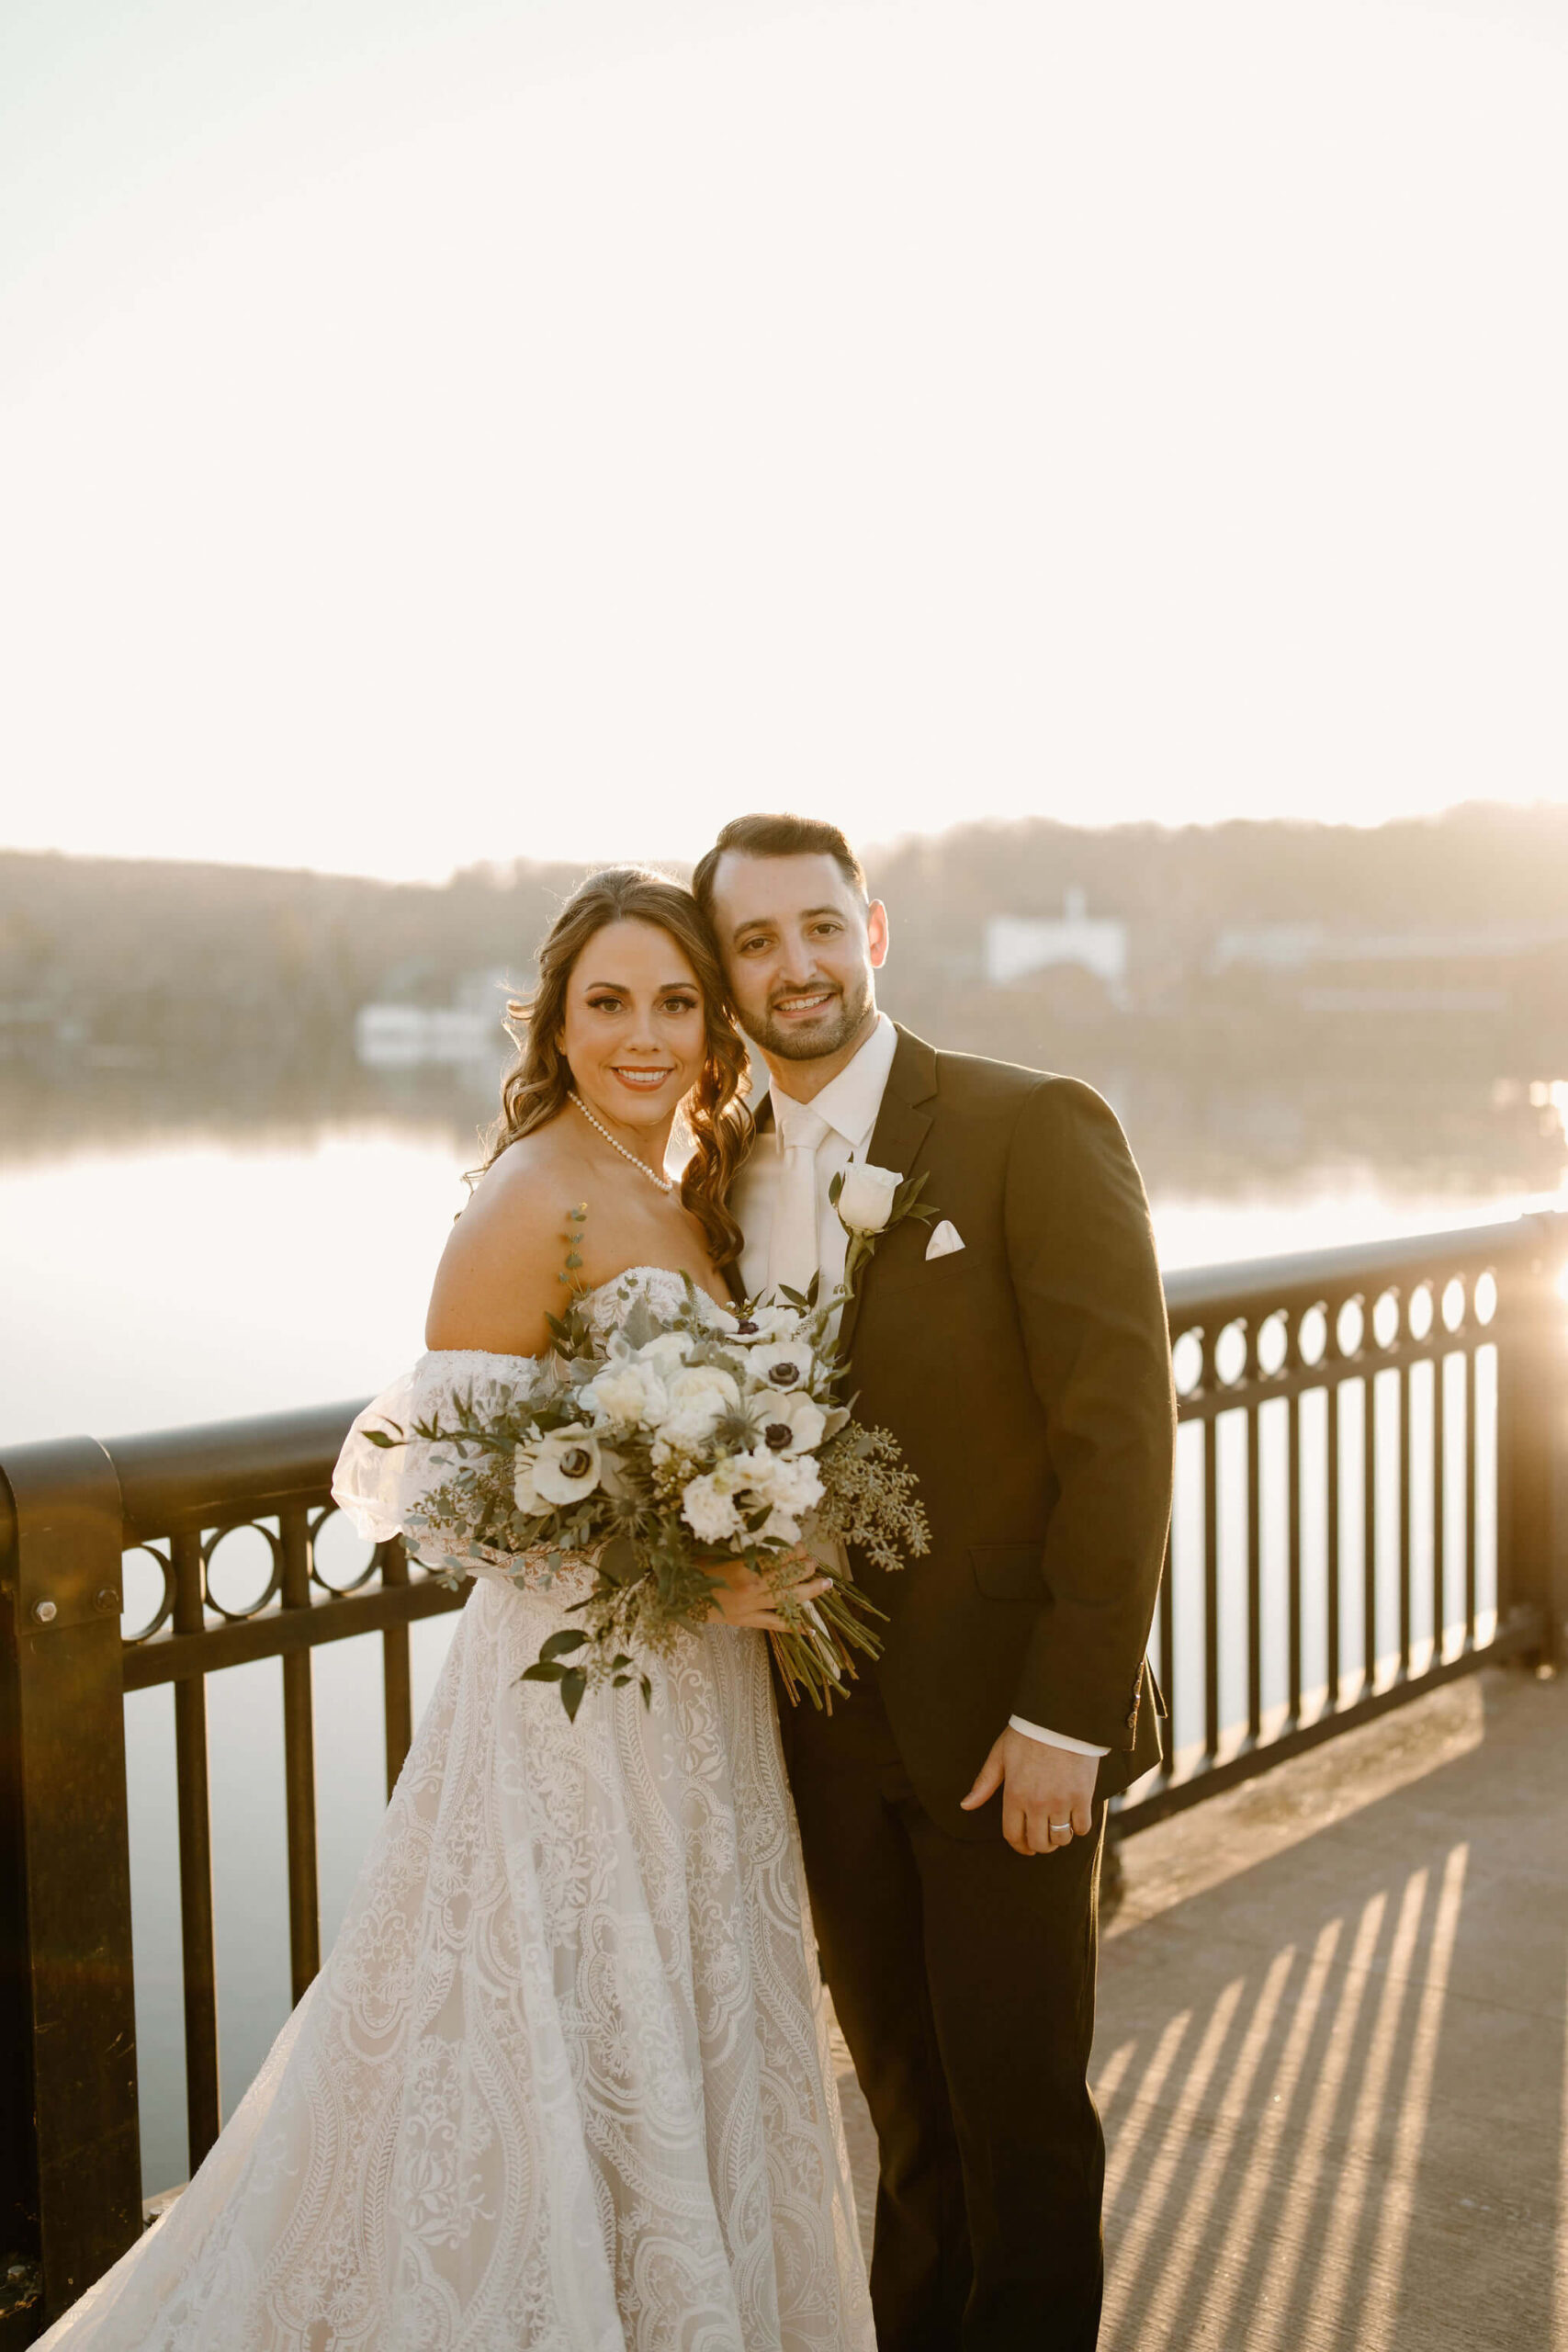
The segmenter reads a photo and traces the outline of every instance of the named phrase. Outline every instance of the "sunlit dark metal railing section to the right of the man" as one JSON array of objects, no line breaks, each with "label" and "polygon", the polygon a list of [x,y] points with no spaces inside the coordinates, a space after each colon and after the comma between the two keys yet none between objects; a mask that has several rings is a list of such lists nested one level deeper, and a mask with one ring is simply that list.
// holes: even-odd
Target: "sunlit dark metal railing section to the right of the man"
[{"label": "sunlit dark metal railing section to the right of the man", "polygon": [[1154,1663],[1175,1738],[1124,1830],[1481,1661],[1561,1656],[1566,1270],[1568,1214],[1540,1214],[1166,1279],[1180,1428]]}]

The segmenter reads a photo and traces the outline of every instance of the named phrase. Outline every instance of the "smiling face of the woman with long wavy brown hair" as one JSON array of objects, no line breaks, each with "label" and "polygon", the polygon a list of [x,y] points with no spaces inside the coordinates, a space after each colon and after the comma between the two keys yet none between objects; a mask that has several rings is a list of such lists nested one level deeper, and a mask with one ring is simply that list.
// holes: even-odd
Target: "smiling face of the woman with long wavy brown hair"
[{"label": "smiling face of the woman with long wavy brown hair", "polygon": [[618,1127],[668,1127],[708,1051],[703,990],[656,922],[607,922],[567,981],[562,1051],[590,1110]]}]

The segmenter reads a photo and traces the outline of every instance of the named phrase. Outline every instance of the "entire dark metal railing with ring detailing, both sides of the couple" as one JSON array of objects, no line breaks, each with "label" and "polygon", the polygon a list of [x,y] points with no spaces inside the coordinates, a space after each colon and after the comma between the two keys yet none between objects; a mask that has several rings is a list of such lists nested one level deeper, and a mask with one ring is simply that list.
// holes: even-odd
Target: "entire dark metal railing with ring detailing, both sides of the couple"
[{"label": "entire dark metal railing with ring detailing, both sides of the couple", "polygon": [[[1481,1661],[1563,1653],[1563,1268],[1568,1216],[1533,1216],[1168,1279],[1182,1428],[1154,1658],[1178,1738],[1126,1830]],[[141,2227],[125,1693],[174,1684],[193,2166],[219,2131],[207,1675],[282,1661],[296,1999],[320,1964],[310,1649],[381,1635],[388,1792],[407,1755],[409,1625],[461,1595],[395,1543],[329,1578],[355,1409],[0,1463],[0,2347]],[[235,1529],[268,1566],[240,1606],[214,1576]]]}]

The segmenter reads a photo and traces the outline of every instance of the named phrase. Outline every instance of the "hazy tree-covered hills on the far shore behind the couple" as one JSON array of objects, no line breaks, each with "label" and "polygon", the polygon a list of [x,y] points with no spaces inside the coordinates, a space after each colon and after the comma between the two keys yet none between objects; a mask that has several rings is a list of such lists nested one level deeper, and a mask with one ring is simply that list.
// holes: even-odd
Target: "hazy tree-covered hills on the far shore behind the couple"
[{"label": "hazy tree-covered hills on the far shore behind the couple", "polygon": [[[990,990],[992,915],[1058,915],[1081,889],[1128,924],[1135,1016],[1246,1035],[1258,990],[1215,983],[1225,929],[1319,922],[1342,931],[1455,931],[1568,920],[1568,807],[1474,804],[1368,830],[1307,823],[1088,830],[1032,818],[961,826],[867,856],[893,913],[889,1009],[929,1035],[1030,1061],[1095,1033],[1105,1002],[1077,976]],[[679,873],[679,868],[670,868]],[[252,1082],[353,1056],[371,1000],[447,1004],[475,971],[527,988],[555,908],[585,868],[517,861],[444,884],[244,866],[0,851],[0,1058],[207,1068]],[[1542,1018],[1552,1023],[1552,1007]],[[1081,1061],[1081,1056],[1079,1056]]]}]

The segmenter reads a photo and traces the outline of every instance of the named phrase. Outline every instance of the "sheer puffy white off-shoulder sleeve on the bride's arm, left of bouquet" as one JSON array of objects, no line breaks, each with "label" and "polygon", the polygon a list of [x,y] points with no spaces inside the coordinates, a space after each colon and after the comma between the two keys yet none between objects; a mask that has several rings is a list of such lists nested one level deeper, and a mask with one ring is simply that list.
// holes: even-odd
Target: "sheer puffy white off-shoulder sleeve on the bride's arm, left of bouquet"
[{"label": "sheer puffy white off-shoulder sleeve on the bride's arm, left of bouquet", "polygon": [[[331,1475],[331,1498],[348,1512],[367,1543],[402,1536],[409,1555],[442,1576],[489,1576],[517,1585],[531,1581],[545,1552],[496,1552],[482,1543],[435,1536],[421,1524],[421,1503],[458,1468],[458,1451],[428,1437],[414,1437],[414,1423],[451,1418],[461,1397],[484,1414],[510,1402],[534,1383],[538,1367],[527,1355],[489,1355],[477,1348],[444,1348],[423,1355],[414,1371],[355,1414]],[[402,1444],[378,1446],[371,1430],[400,1437]]]}]

